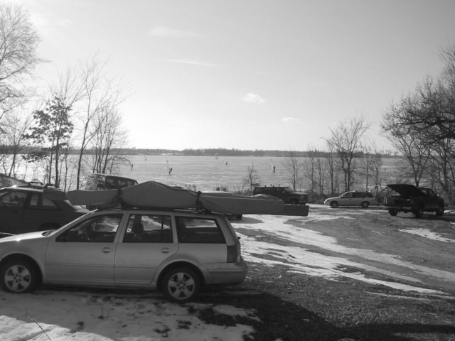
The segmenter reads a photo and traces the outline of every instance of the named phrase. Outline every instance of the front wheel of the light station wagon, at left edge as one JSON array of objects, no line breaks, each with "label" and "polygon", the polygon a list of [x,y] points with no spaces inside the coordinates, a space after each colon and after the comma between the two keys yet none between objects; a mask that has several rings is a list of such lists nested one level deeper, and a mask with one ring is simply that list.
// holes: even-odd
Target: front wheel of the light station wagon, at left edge
[{"label": "front wheel of the light station wagon, at left edge", "polygon": [[0,276],[1,288],[9,293],[31,293],[38,286],[38,271],[30,261],[8,261]]}]

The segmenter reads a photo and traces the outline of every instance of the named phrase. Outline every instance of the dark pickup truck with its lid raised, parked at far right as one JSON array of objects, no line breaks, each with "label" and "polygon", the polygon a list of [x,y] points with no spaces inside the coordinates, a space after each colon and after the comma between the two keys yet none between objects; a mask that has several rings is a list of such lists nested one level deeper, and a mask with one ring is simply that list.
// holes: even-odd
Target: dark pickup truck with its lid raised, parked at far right
[{"label": "dark pickup truck with its lid raised, parked at far right", "polygon": [[424,212],[434,212],[436,215],[444,215],[444,199],[439,197],[429,188],[417,188],[406,183],[387,185],[395,191],[392,195],[384,197],[383,205],[390,215],[398,212],[412,212],[415,217],[422,217]]}]

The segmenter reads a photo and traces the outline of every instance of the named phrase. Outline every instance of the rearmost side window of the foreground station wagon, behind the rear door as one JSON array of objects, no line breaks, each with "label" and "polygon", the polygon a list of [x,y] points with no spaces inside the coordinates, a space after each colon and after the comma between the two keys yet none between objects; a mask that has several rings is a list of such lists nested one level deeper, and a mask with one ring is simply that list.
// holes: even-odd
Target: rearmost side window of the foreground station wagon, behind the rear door
[{"label": "rearmost side window of the foreground station wagon, behind the rear door", "polygon": [[225,237],[215,219],[176,217],[178,242],[224,244]]}]

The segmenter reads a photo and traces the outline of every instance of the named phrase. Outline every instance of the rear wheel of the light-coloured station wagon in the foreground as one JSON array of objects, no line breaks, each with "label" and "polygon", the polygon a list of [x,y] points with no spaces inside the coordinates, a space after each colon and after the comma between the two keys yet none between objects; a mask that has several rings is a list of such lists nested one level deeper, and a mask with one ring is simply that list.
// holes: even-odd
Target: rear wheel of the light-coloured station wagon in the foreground
[{"label": "rear wheel of the light-coloured station wagon in the foreground", "polygon": [[200,278],[196,272],[188,268],[176,268],[168,271],[161,282],[164,296],[176,303],[194,301],[200,291]]}]

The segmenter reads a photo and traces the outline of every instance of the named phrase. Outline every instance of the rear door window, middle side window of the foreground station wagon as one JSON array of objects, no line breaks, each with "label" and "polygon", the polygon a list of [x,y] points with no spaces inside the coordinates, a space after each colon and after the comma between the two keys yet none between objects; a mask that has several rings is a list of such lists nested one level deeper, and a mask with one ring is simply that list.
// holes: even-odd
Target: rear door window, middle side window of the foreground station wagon
[{"label": "rear door window, middle side window of the foreground station wagon", "polygon": [[124,243],[172,243],[171,217],[168,215],[130,215]]}]

